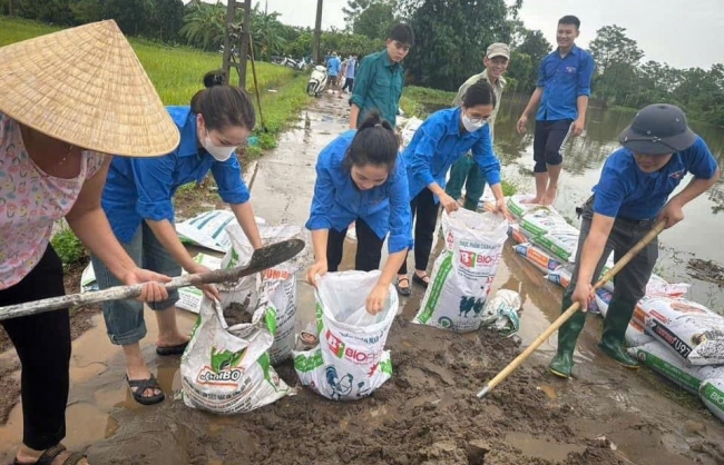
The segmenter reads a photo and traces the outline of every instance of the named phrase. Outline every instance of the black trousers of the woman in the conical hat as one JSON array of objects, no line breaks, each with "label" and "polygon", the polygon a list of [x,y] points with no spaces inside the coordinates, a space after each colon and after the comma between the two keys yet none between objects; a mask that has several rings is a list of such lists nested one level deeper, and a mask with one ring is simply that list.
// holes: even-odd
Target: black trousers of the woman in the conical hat
[{"label": "black trousers of the woman in the conical hat", "polygon": [[[66,294],[62,264],[48,245],[36,267],[18,284],[0,290],[0,306]],[[2,323],[20,358],[22,374],[22,442],[45,451],[66,437],[66,404],[70,383],[70,316],[68,309]]]}]

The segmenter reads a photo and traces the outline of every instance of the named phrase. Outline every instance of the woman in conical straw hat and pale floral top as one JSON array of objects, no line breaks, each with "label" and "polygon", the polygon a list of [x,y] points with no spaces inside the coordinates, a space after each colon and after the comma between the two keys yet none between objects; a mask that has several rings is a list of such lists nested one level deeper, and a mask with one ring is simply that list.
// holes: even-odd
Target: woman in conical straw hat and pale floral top
[{"label": "woman in conical straw hat and pale floral top", "polygon": [[[120,283],[158,281],[114,236],[100,208],[111,157],[151,157],[179,133],[114,21],[0,48],[0,306],[65,294],[49,244],[65,218]],[[87,464],[60,444],[69,388],[68,309],[2,320],[22,365],[22,445],[16,464]]]}]

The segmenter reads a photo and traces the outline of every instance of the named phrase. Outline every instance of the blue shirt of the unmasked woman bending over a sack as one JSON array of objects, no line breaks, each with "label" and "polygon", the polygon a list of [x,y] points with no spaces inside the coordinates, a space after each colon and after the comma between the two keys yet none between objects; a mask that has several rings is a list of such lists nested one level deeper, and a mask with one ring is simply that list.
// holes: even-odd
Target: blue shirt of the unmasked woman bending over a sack
[{"label": "blue shirt of the unmasked woman bending over a sack", "polygon": [[394,170],[382,185],[360,190],[344,167],[344,157],[355,133],[355,129],[343,132],[320,152],[306,228],[342,231],[360,218],[380,239],[390,234],[390,254],[409,249],[412,247],[412,214],[404,162],[398,158]]}]

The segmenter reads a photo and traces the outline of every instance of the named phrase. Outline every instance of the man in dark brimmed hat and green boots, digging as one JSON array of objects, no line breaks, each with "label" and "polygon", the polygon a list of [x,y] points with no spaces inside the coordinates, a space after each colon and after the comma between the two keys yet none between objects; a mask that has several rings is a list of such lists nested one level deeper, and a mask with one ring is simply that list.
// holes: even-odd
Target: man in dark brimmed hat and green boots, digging
[{"label": "man in dark brimmed hat and green boots, digging", "polygon": [[[642,109],[620,135],[619,148],[604,165],[594,195],[581,209],[583,222],[576,267],[566,288],[562,309],[574,301],[577,311],[558,330],[558,352],[548,369],[569,377],[576,339],[586,321],[593,286],[612,250],[618,260],[659,220],[671,228],[684,219],[683,207],[706,191],[720,177],[720,168],[704,140],[686,123],[684,112],[673,105],[650,105]],[[682,179],[691,181],[671,199]],[[614,295],[604,320],[600,350],[618,364],[637,368],[624,348],[624,335],[644,297],[658,257],[653,240],[625,266],[614,281]]]}]

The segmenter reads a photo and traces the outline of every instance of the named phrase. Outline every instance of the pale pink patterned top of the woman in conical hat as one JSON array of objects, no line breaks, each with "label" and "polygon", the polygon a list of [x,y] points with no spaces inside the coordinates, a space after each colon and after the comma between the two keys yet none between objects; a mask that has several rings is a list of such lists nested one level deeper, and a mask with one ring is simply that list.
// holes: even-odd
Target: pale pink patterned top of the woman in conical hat
[{"label": "pale pink patterned top of the woman in conical hat", "polygon": [[72,208],[86,179],[106,155],[84,151],[80,174],[61,179],[28,156],[20,125],[0,112],[0,289],[18,284],[38,265],[53,224]]}]

